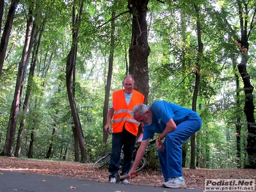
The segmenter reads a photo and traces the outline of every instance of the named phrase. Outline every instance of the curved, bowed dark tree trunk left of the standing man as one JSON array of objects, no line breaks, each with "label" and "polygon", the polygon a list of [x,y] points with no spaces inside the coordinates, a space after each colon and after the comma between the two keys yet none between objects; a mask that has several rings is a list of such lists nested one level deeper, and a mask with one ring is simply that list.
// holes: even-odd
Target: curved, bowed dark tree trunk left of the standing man
[{"label": "curved, bowed dark tree trunk left of the standing man", "polygon": [[[76,1],[76,0],[75,0]],[[83,10],[83,1],[77,6],[79,8],[76,15],[76,3],[73,5],[73,19],[72,19],[72,47],[67,56],[66,64],[66,84],[67,84],[67,93],[68,101],[70,104],[71,113],[74,120],[75,131],[79,142],[79,147],[81,151],[81,163],[88,161],[85,140],[82,125],[80,122],[79,114],[76,108],[75,95],[74,95],[74,81],[72,81],[72,75],[76,74],[76,54],[77,54],[77,37],[79,34],[79,23],[81,22],[81,13]]]}]

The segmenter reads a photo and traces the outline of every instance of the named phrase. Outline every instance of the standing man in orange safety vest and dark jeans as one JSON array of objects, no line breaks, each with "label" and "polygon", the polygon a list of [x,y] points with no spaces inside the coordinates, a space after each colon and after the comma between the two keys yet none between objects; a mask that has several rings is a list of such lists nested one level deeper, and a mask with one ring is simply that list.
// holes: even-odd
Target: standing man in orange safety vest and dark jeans
[{"label": "standing man in orange safety vest and dark jeans", "polygon": [[[120,175],[127,175],[131,168],[132,153],[140,125],[131,116],[131,111],[136,104],[143,104],[144,95],[134,90],[135,81],[132,76],[126,76],[122,82],[124,89],[113,92],[113,101],[108,111],[105,131],[111,131],[113,118],[113,137],[111,157],[108,171],[109,182],[116,183],[115,174],[120,168],[120,154],[123,148],[124,159]],[[128,179],[121,180],[124,184],[130,184]]]}]

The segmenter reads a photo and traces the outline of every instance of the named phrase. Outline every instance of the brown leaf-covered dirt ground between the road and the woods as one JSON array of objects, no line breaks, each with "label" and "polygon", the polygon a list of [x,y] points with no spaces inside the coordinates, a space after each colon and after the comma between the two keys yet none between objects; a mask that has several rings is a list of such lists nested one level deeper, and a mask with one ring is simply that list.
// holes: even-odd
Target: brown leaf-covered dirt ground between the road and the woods
[{"label": "brown leaf-covered dirt ground between the road and the woods", "polygon": [[[72,177],[81,180],[97,180],[108,182],[108,168],[92,168],[92,163],[75,163],[64,161],[40,161],[13,157],[0,157],[1,170],[26,172],[58,177]],[[187,188],[204,189],[205,179],[256,179],[256,170],[252,169],[201,169],[184,168],[184,179]],[[160,170],[142,170],[131,184],[161,186],[163,176]]]}]

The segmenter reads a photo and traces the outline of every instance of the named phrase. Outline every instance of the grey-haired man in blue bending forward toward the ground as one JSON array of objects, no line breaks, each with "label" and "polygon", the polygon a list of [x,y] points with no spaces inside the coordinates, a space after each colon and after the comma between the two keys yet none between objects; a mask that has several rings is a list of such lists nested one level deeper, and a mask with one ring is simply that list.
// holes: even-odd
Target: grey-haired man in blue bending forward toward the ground
[{"label": "grey-haired man in blue bending forward toward the ground", "polygon": [[143,126],[143,139],[129,177],[145,154],[148,141],[157,133],[159,163],[166,188],[186,188],[182,176],[182,146],[188,138],[200,129],[202,120],[195,111],[163,100],[157,100],[148,108],[138,104],[132,109],[132,117]]}]

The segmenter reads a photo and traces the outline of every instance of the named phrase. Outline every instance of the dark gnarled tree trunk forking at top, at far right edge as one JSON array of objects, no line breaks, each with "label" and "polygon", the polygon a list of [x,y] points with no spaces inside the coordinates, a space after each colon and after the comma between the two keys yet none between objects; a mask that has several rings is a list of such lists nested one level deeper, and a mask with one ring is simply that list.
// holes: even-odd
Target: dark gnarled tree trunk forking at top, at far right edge
[{"label": "dark gnarled tree trunk forking at top, at far right edge", "polygon": [[[248,164],[246,168],[256,168],[256,123],[254,118],[254,109],[253,104],[253,86],[250,82],[250,75],[247,72],[247,61],[248,61],[248,50],[249,44],[248,39],[252,32],[255,21],[252,19],[252,24],[250,24],[250,11],[252,10],[255,17],[256,9],[248,10],[248,4],[242,4],[241,1],[237,1],[239,7],[239,18],[240,18],[240,31],[241,31],[241,40],[237,40],[236,43],[239,45],[239,51],[241,51],[241,63],[237,65],[238,71],[241,74],[244,83],[244,113],[247,120],[247,147],[246,151],[248,153]],[[244,15],[243,15],[244,14]],[[248,29],[248,27],[250,28]],[[248,32],[249,31],[249,32]]]}]

